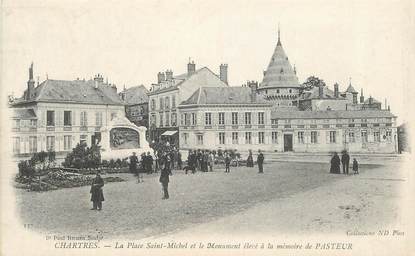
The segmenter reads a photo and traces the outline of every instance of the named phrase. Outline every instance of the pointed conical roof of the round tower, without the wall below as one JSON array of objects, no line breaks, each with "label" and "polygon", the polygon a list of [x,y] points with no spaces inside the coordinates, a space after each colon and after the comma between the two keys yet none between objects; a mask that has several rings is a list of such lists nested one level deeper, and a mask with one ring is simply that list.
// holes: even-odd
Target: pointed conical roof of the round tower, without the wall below
[{"label": "pointed conical roof of the round tower, without the wall below", "polygon": [[300,87],[298,77],[282,48],[278,31],[278,43],[272,54],[260,87]]}]

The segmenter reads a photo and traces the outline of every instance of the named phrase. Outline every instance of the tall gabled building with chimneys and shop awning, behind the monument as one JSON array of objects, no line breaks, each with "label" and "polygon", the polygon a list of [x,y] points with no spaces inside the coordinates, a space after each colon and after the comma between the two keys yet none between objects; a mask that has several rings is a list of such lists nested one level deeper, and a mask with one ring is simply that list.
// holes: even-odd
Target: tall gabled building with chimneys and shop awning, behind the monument
[{"label": "tall gabled building with chimneys and shop awning, behind the monument", "polygon": [[170,143],[179,144],[180,102],[188,99],[200,87],[227,87],[227,65],[220,66],[220,75],[209,68],[196,70],[196,64],[189,62],[187,72],[173,76],[173,71],[159,72],[157,84],[149,93],[149,131],[151,140],[164,137]]}]

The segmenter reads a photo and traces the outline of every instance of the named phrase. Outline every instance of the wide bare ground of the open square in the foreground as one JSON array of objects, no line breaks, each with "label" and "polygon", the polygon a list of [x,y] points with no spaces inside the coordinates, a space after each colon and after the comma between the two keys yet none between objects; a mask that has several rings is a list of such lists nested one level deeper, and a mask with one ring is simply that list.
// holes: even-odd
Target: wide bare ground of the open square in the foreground
[{"label": "wide bare ground of the open square in the foreground", "polygon": [[[100,231],[105,238],[140,239],[180,232],[335,232],[354,222],[374,224],[371,214],[377,214],[378,225],[399,217],[395,199],[405,178],[398,166],[397,161],[362,164],[358,176],[329,174],[324,163],[298,162],[268,163],[262,175],[247,167],[195,175],[175,171],[169,200],[161,200],[156,174],[145,175],[140,184],[133,175],[121,174],[128,181],[105,185],[100,212],[89,210],[88,186],[43,193],[17,190],[17,200],[23,223],[49,234]],[[346,214],[341,207],[350,210],[350,204],[359,210]],[[381,212],[381,204],[391,207]]]}]

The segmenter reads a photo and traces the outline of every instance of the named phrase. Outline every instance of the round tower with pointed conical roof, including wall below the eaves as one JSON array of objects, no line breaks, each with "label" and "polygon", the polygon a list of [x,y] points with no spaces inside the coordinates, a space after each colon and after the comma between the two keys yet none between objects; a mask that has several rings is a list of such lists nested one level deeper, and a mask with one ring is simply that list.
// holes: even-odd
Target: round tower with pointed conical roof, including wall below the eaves
[{"label": "round tower with pointed conical roof, including wall below the eaves", "polygon": [[264,78],[258,87],[258,94],[271,101],[276,108],[293,108],[300,95],[297,72],[282,48],[280,29],[278,42],[271,57]]}]

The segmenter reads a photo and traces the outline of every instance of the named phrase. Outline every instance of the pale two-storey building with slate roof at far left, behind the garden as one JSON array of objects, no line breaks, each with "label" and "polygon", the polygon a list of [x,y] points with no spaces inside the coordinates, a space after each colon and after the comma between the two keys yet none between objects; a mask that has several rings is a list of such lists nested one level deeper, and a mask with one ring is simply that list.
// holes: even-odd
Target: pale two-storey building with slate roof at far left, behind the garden
[{"label": "pale two-storey building with slate roof at far left, behind the garden", "polygon": [[40,151],[55,151],[62,158],[78,143],[97,144],[101,128],[125,116],[117,88],[104,83],[101,75],[88,81],[47,79],[35,87],[33,64],[23,97],[10,107],[18,159]]}]

